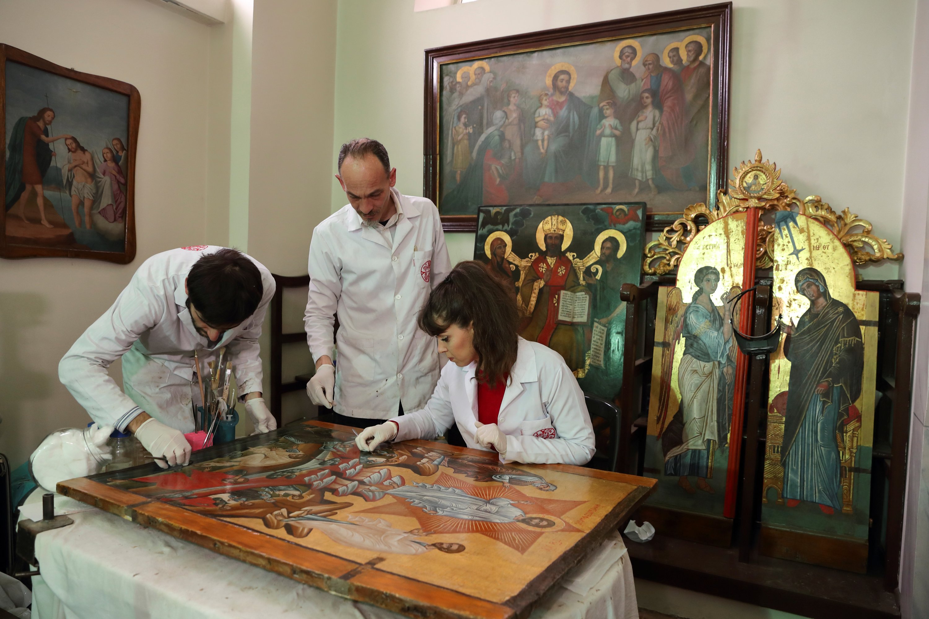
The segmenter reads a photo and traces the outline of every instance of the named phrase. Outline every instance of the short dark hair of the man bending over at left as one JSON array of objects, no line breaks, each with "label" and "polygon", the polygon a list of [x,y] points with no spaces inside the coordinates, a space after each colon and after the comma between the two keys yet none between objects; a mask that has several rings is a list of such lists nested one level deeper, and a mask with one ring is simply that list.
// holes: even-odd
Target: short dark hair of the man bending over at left
[{"label": "short dark hair of the man bending over at left", "polygon": [[241,324],[264,295],[261,271],[242,252],[223,248],[197,260],[187,276],[187,300],[211,327]]}]

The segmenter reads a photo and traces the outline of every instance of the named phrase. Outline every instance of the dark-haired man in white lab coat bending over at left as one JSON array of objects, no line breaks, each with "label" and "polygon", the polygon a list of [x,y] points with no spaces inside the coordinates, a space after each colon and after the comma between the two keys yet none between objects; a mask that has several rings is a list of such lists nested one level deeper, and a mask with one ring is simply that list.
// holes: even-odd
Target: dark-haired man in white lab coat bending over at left
[{"label": "dark-haired man in white lab coat bending over at left", "polygon": [[[142,263],[112,307],[59,362],[59,378],[99,425],[135,433],[159,465],[186,464],[203,374],[225,348],[255,433],[277,428],[261,397],[258,336],[274,278],[255,259],[196,245]],[[124,392],[107,368],[122,358]],[[204,379],[205,382],[205,379]],[[196,398],[193,395],[196,393]]]}]

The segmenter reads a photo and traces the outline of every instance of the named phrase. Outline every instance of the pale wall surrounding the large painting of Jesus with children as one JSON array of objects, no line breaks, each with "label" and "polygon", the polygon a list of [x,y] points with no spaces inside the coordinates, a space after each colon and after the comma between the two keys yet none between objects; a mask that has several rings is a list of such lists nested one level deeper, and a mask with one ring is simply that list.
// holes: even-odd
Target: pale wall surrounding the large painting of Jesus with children
[{"label": "pale wall surrounding the large painting of Jesus with children", "polygon": [[[418,194],[424,49],[704,4],[480,0],[413,12],[412,0],[340,0],[335,148],[361,135],[381,139],[400,191]],[[913,0],[734,5],[730,164],[760,148],[799,195],[847,206],[899,244]],[[333,208],[344,197],[334,191]],[[471,235],[458,236],[449,235],[453,257],[470,257]],[[897,267],[869,271],[896,277]]]}]

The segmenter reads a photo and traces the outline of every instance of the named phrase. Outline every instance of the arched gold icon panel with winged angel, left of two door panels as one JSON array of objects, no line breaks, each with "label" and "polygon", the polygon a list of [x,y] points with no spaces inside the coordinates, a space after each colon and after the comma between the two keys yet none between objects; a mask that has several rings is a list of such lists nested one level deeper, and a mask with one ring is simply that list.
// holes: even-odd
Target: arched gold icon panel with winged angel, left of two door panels
[{"label": "arched gold icon panel with winged angel, left of two door panels", "polygon": [[645,462],[658,491],[648,505],[722,516],[737,389],[729,318],[744,252],[745,215],[717,219],[688,246],[677,285],[659,291]]}]

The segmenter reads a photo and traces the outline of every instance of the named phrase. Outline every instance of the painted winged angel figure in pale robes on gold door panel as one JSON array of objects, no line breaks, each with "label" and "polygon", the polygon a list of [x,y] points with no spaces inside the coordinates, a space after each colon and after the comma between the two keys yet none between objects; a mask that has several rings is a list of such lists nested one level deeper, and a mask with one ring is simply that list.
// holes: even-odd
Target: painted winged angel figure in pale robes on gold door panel
[{"label": "painted winged angel figure in pale robes on gold door panel", "polygon": [[[696,491],[687,481],[697,478],[700,490],[714,494],[707,483],[713,477],[713,452],[725,447],[732,419],[733,380],[736,354],[732,337],[731,307],[726,301],[739,293],[733,287],[722,296],[722,311],[711,296],[719,286],[719,270],[705,266],[697,270],[697,291],[690,303],[682,303],[681,291],[668,294],[661,353],[658,436],[664,452],[664,474],[679,478],[677,485],[687,493]],[[684,337],[684,355],[677,368],[680,405],[669,411],[674,349]]]}]

